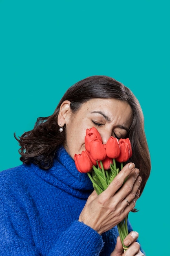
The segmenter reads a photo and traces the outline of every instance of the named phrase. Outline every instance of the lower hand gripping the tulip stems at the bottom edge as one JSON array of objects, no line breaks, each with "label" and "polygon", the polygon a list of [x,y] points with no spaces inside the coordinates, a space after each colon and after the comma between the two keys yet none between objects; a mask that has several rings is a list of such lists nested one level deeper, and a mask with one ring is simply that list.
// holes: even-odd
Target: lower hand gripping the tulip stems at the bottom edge
[{"label": "lower hand gripping the tulip stems at the bottom edge", "polygon": [[124,254],[124,249],[122,248],[121,240],[118,236],[116,247],[110,256],[144,256],[144,254],[140,251],[139,243],[135,242],[137,238],[138,233],[135,231],[131,231],[128,236],[126,236],[124,239],[124,245],[129,247],[126,250],[126,254]]}]

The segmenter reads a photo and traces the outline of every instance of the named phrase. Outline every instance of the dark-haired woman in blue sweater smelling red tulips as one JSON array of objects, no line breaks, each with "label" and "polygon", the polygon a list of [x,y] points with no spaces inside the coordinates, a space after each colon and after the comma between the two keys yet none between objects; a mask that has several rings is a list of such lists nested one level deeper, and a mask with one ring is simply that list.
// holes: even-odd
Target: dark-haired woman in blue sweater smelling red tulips
[{"label": "dark-haired woman in blue sweater smelling red tulips", "polygon": [[[133,151],[100,195],[73,160],[93,126],[103,143],[128,137]],[[17,140],[23,164],[0,173],[0,255],[122,256],[117,224],[135,211],[150,174],[143,114],[132,92],[108,76],[88,77]],[[129,222],[128,229],[126,254],[144,255]]]}]

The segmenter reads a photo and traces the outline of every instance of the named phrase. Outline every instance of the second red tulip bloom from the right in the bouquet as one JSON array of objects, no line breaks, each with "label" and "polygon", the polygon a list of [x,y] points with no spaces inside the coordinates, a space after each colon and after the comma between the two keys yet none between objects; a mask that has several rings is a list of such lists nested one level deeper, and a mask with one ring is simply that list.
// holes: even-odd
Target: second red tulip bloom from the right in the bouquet
[{"label": "second red tulip bloom from the right in the bouquet", "polygon": [[111,136],[106,143],[106,154],[110,158],[117,158],[120,155],[120,145],[117,138]]}]

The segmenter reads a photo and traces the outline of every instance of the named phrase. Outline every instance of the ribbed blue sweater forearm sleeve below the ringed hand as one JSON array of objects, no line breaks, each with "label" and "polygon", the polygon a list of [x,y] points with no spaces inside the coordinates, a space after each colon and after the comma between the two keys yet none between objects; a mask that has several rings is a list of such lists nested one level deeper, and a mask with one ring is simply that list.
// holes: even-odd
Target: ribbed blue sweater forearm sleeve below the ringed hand
[{"label": "ribbed blue sweater forearm sleeve below the ringed hand", "polygon": [[98,256],[104,243],[94,229],[75,221],[62,233],[48,256]]}]

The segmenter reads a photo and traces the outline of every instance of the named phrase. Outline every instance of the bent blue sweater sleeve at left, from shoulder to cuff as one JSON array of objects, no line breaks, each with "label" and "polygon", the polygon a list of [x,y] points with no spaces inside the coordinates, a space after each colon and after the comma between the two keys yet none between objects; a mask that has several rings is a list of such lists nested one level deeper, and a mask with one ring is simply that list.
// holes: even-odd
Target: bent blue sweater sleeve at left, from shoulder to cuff
[{"label": "bent blue sweater sleeve at left, from shoulder to cuff", "polygon": [[11,182],[7,183],[0,190],[0,256],[99,255],[104,245],[102,236],[79,221],[74,221],[53,245],[43,236],[41,239],[33,236],[24,195],[20,187],[14,190]]}]

